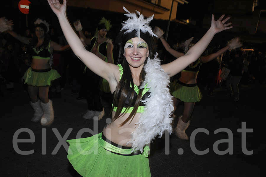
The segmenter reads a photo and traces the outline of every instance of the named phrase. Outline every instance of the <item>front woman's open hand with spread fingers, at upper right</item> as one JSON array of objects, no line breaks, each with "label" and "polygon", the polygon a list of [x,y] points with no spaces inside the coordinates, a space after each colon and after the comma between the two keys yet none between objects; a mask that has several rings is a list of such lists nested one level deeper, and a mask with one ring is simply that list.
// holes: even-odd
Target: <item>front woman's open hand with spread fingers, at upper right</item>
[{"label": "front woman's open hand with spread fingers, at upper right", "polygon": [[212,24],[211,24],[210,29],[212,29],[214,31],[214,33],[219,33],[219,32],[221,32],[223,30],[227,30],[227,29],[232,28],[232,26],[230,26],[232,24],[231,22],[224,24],[231,17],[227,17],[226,19],[223,20],[224,16],[225,15],[222,15],[217,21],[215,21],[214,20],[214,15],[212,14]]}]

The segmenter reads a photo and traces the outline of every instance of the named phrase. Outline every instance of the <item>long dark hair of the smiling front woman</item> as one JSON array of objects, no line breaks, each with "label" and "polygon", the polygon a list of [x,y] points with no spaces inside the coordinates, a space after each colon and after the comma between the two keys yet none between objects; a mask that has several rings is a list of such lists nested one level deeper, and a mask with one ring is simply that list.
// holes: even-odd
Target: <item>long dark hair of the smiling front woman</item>
[{"label": "long dark hair of the smiling front woman", "polygon": [[[112,121],[115,121],[117,118],[123,116],[125,112],[129,109],[129,108],[126,108],[126,110],[121,114],[123,106],[126,103],[126,100],[127,100],[128,105],[134,104],[134,108],[132,112],[130,113],[130,115],[128,116],[128,118],[126,118],[126,120],[120,126],[125,125],[130,119],[132,121],[132,118],[137,113],[138,106],[140,105],[140,100],[141,100],[142,91],[143,91],[143,89],[140,89],[137,99],[134,99],[134,82],[132,78],[132,73],[129,68],[129,64],[126,61],[126,58],[123,54],[124,54],[124,46],[126,42],[129,39],[136,37],[135,35],[136,31],[132,31],[131,33],[127,33],[127,34],[124,34],[124,32],[125,32],[124,30],[121,31],[116,38],[116,43],[119,45],[118,63],[121,63],[123,67],[123,74],[114,92],[112,110],[114,108],[114,105],[117,105],[117,110],[116,110],[116,113]],[[141,33],[140,37],[143,40],[145,40],[145,42],[148,44],[149,57],[152,59],[155,54],[155,50],[154,50],[155,45],[154,45],[153,37],[149,33]],[[147,63],[147,58],[144,64],[146,63]],[[142,83],[144,82],[145,75],[146,75],[146,72],[144,71],[144,68],[142,68],[142,71],[140,72],[140,78],[139,78],[140,85],[142,85]]]}]

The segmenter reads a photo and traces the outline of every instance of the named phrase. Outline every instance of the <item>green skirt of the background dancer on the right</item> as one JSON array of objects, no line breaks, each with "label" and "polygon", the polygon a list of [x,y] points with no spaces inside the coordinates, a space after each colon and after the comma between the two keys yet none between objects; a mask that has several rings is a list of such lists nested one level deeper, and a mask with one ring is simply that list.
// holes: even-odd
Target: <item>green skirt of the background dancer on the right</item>
[{"label": "green skirt of the background dancer on the right", "polygon": [[197,85],[193,87],[188,87],[188,86],[181,85],[179,83],[177,80],[175,80],[170,85],[171,93],[175,98],[178,98],[181,101],[188,102],[188,103],[197,102],[202,99],[202,94]]}]

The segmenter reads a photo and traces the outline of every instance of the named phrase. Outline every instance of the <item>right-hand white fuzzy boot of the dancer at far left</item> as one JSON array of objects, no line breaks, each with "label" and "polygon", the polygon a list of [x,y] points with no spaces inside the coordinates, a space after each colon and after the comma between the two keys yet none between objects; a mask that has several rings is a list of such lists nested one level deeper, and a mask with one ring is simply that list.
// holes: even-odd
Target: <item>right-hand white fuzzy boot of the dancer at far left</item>
[{"label": "right-hand white fuzzy boot of the dancer at far left", "polygon": [[48,103],[41,102],[41,107],[43,109],[43,116],[40,120],[40,123],[43,126],[49,126],[54,120],[52,100],[49,100]]}]

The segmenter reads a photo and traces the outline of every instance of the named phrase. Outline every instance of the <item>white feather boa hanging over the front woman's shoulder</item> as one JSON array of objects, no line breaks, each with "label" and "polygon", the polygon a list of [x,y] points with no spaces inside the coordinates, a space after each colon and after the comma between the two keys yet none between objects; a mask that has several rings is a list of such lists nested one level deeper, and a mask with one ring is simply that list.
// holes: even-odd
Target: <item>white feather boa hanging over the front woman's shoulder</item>
[{"label": "white feather boa hanging over the front woman's shoulder", "polygon": [[147,84],[150,96],[142,100],[145,103],[144,113],[140,116],[135,131],[132,133],[132,139],[127,144],[132,144],[134,150],[143,152],[145,144],[150,143],[157,135],[160,137],[167,130],[172,133],[173,111],[172,95],[169,92],[169,76],[166,74],[160,60],[148,58],[144,66],[146,77],[140,88]]}]

